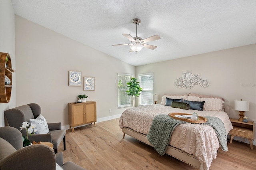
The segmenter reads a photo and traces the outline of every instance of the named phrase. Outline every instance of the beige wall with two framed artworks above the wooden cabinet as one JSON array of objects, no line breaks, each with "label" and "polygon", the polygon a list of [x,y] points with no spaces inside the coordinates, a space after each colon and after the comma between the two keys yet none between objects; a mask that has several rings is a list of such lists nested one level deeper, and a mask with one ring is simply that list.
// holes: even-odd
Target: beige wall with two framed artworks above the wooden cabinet
[{"label": "beige wall with two framed artworks above the wooden cabinet", "polygon": [[[98,121],[125,110],[117,109],[117,74],[135,75],[134,66],[20,16],[15,16],[15,38],[17,106],[38,103],[49,123],[62,126],[68,125],[68,103],[76,102],[79,94],[97,102]],[[95,77],[95,91],[84,91],[83,83],[68,86],[68,71]]]}]

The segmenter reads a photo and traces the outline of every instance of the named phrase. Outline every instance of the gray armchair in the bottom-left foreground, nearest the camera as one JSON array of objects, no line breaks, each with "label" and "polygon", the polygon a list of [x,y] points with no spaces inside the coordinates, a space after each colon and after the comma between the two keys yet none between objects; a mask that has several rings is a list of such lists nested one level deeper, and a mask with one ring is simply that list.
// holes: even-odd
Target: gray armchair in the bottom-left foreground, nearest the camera
[{"label": "gray armchair in the bottom-left foreground, nearest the camera", "polygon": [[63,162],[63,153],[54,154],[43,144],[23,147],[22,134],[14,127],[0,128],[1,170],[55,170],[56,163],[64,170],[84,170],[73,162]]}]

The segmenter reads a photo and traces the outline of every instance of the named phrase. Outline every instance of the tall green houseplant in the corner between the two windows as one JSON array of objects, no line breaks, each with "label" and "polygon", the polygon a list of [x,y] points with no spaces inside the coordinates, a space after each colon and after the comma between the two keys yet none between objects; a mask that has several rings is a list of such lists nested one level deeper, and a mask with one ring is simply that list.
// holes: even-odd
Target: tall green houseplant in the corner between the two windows
[{"label": "tall green houseplant in the corner between the two windows", "polygon": [[140,95],[140,92],[143,90],[140,87],[140,82],[137,82],[137,79],[132,77],[130,81],[127,83],[127,87],[129,88],[127,92],[127,95],[132,96],[133,98],[133,107],[135,107],[135,98]]}]

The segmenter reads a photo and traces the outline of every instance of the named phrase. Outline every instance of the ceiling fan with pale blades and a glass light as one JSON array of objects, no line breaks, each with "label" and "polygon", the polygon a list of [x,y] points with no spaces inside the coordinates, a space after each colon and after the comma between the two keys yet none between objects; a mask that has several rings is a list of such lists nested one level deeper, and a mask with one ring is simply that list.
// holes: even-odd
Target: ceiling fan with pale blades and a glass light
[{"label": "ceiling fan with pale blades and a glass light", "polygon": [[122,34],[123,36],[125,36],[126,38],[128,38],[128,40],[131,41],[131,43],[126,43],[126,44],[116,44],[116,45],[112,45],[112,46],[120,46],[120,45],[130,45],[130,51],[129,52],[138,52],[140,51],[143,47],[148,48],[148,49],[156,49],[157,46],[154,45],[149,45],[146,44],[147,42],[152,42],[155,40],[159,40],[160,37],[158,35],[154,35],[152,37],[146,38],[144,40],[142,40],[142,38],[137,36],[137,25],[140,25],[140,19],[135,18],[133,19],[133,24],[136,25],[136,36],[134,38],[132,38],[132,36],[130,36],[130,34]]}]

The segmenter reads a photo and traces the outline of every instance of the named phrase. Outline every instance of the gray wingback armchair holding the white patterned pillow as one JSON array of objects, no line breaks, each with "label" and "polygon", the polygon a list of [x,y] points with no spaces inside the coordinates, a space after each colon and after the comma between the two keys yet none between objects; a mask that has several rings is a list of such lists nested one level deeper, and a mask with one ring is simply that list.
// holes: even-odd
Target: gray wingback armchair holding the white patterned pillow
[{"label": "gray wingback armchair holding the white patterned pillow", "polygon": [[[41,107],[36,103],[30,103],[15,107],[4,111],[4,115],[10,127],[15,127],[20,130],[22,123],[29,119],[36,119],[41,115]],[[64,150],[66,150],[66,130],[61,129],[61,123],[48,123],[49,132],[47,134],[32,134],[28,139],[36,142],[51,142],[53,143],[54,152],[58,152],[58,146],[63,139]],[[21,130],[22,135],[26,136],[26,130]]]}]

